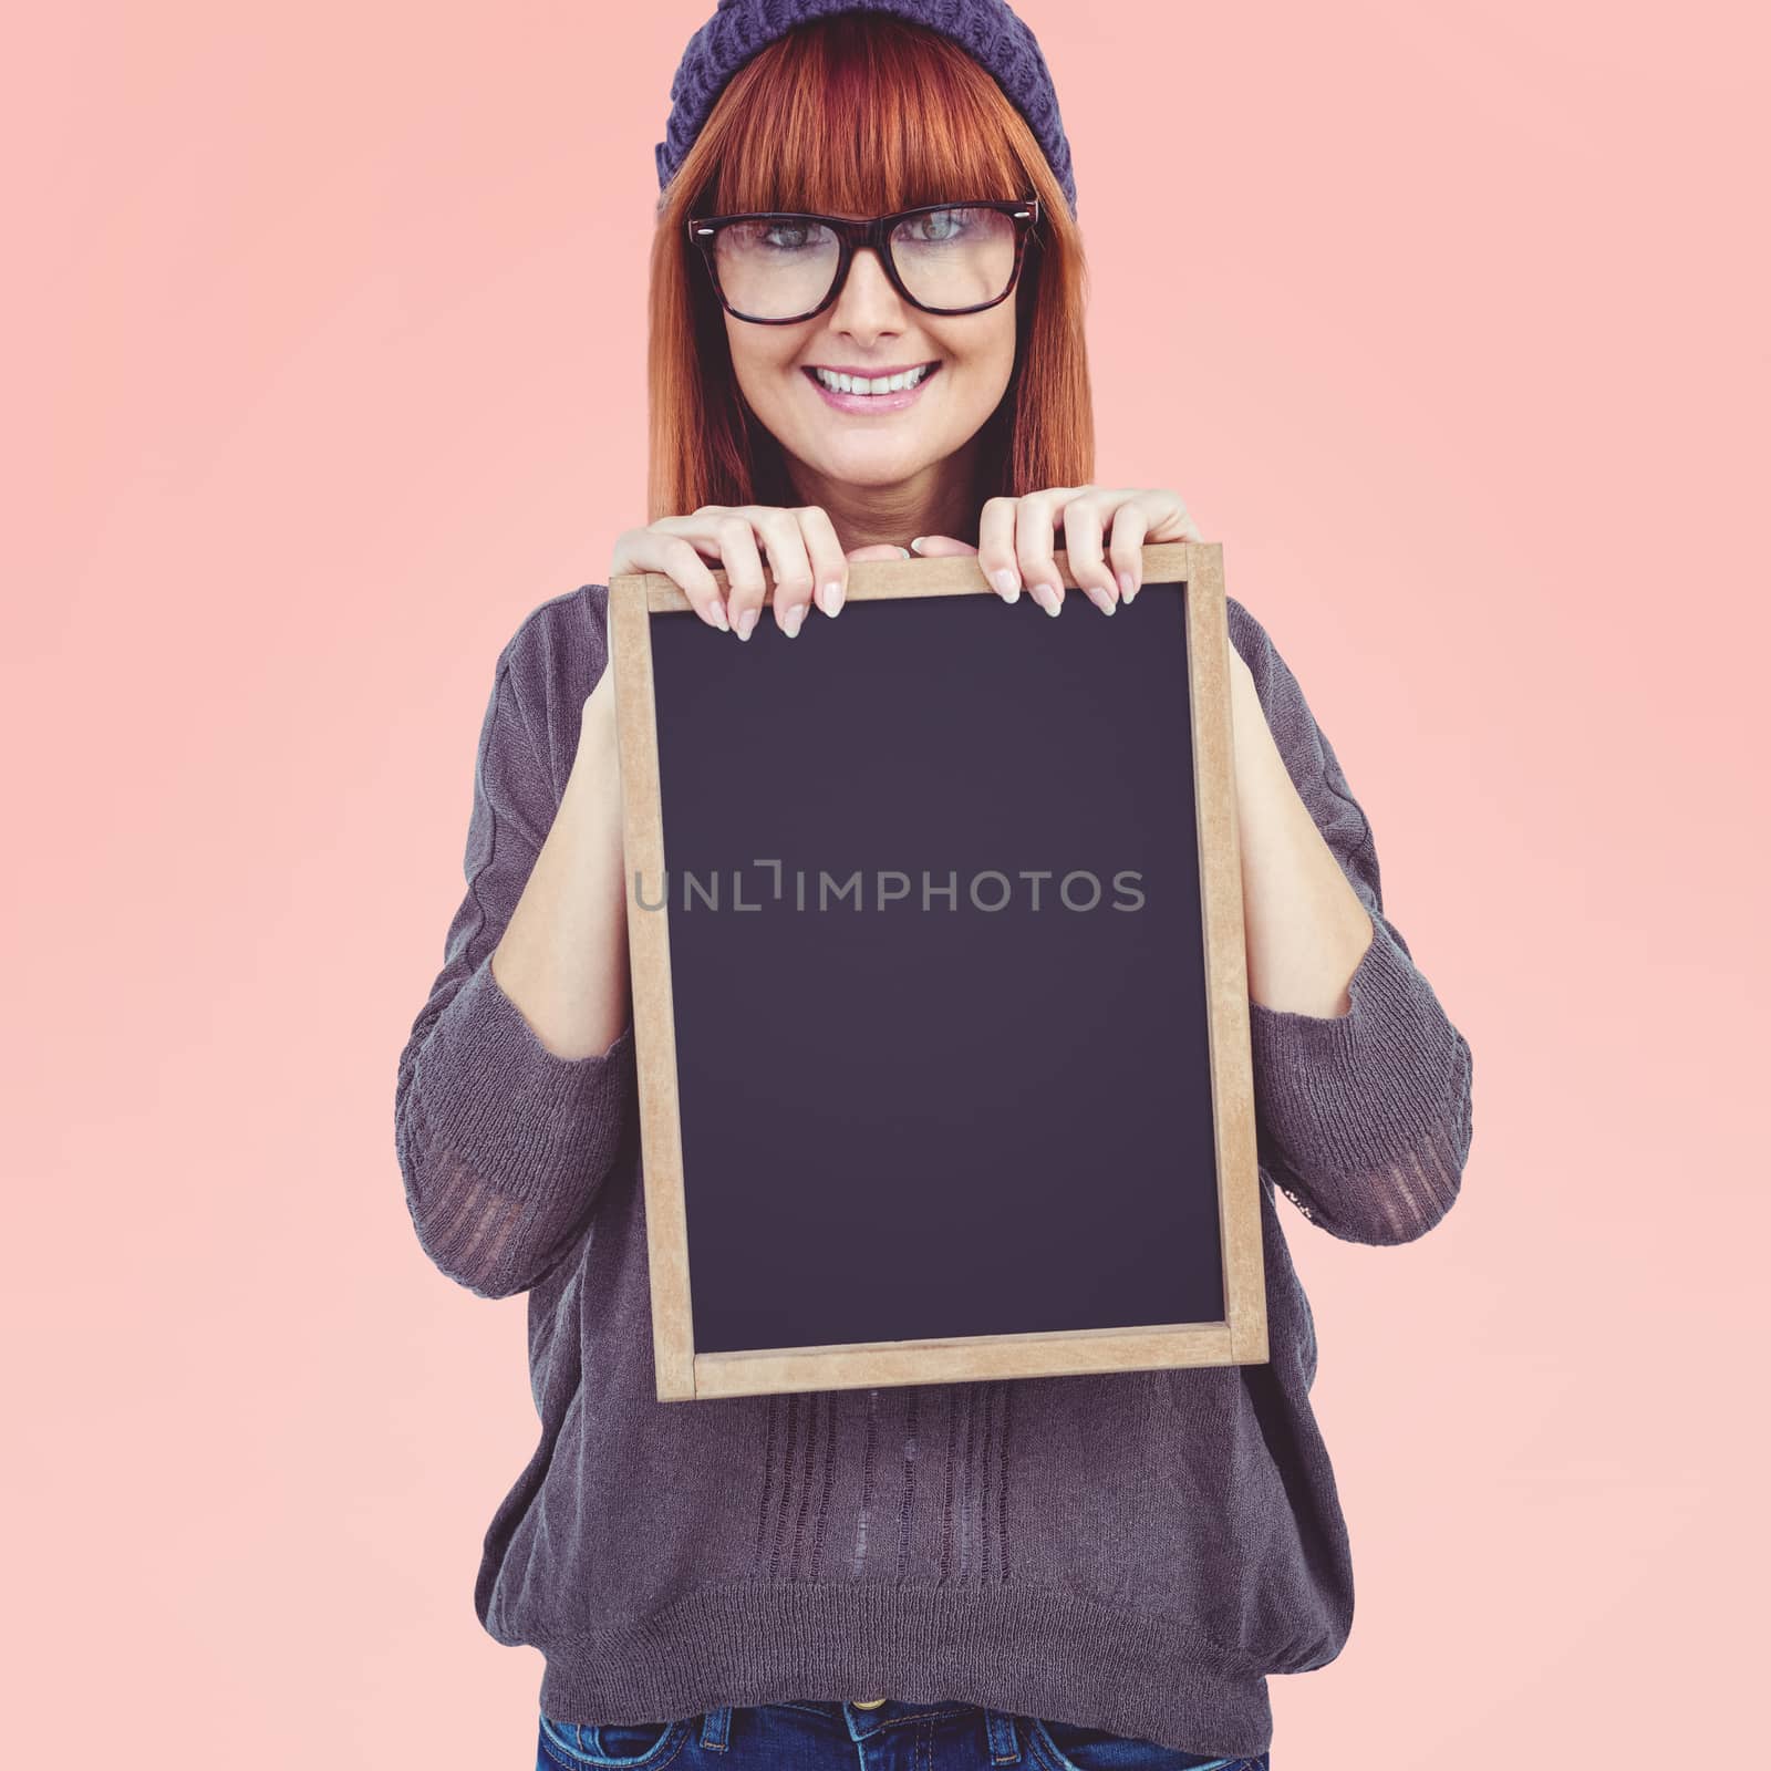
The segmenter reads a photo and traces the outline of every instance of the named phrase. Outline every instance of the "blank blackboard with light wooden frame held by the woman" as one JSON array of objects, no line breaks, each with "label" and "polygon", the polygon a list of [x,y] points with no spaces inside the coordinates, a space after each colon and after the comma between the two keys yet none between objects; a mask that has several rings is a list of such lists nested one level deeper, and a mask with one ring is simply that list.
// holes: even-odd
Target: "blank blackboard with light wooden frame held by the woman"
[{"label": "blank blackboard with light wooden frame held by the woman", "polygon": [[1264,1358],[1220,549],[609,611],[659,1397]]}]

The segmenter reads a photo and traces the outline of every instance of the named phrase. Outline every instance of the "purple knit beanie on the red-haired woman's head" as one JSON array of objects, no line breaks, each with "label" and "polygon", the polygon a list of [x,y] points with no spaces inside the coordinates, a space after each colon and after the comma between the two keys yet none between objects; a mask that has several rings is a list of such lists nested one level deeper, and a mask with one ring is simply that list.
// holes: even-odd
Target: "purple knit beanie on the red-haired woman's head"
[{"label": "purple knit beanie on the red-haired woman's head", "polygon": [[776,37],[832,12],[896,12],[951,37],[995,76],[1038,136],[1052,174],[1077,213],[1070,142],[1057,115],[1057,92],[1032,32],[1004,0],[719,0],[714,16],[689,39],[671,81],[671,113],[657,143],[659,189],[682,165],[726,81]]}]

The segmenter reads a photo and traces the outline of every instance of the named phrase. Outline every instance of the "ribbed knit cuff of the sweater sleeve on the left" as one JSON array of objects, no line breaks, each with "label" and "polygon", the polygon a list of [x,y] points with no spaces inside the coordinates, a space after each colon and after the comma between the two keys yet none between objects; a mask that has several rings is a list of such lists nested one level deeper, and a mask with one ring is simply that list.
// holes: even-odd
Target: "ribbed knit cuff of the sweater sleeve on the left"
[{"label": "ribbed knit cuff of the sweater sleeve on the left", "polygon": [[414,1079],[427,1137],[510,1199],[600,1179],[634,1086],[634,1024],[606,1052],[560,1057],[505,995],[487,955],[443,1009]]}]

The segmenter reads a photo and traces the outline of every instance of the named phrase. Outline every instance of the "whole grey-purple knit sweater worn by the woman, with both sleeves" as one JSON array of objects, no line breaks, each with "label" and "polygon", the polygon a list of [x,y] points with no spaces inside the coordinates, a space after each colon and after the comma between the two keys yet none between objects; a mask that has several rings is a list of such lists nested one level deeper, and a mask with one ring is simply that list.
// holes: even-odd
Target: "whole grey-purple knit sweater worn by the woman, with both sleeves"
[{"label": "whole grey-purple knit sweater worn by the woman, with both sleeves", "polygon": [[1291,779],[1374,923],[1348,1015],[1250,1004],[1270,1362],[659,1403],[632,1024],[556,1057],[489,963],[606,616],[606,586],[581,586],[498,659],[466,894],[398,1064],[420,1245],[480,1296],[528,1293],[540,1440],[485,1534],[480,1622],[542,1651],[542,1707],[568,1721],[896,1697],[1264,1752],[1266,1675],[1334,1659],[1353,1617],[1275,1190],[1334,1236],[1401,1243],[1445,1215],[1470,1148],[1468,1043],[1383,916],[1371,825],[1296,680],[1231,600]]}]

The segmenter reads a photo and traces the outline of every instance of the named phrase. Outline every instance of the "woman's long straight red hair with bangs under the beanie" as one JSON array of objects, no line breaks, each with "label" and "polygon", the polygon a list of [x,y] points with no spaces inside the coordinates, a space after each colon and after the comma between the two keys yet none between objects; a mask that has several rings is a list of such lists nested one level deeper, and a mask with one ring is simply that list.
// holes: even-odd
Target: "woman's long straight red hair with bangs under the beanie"
[{"label": "woman's long straight red hair with bangs under the beanie", "polygon": [[986,421],[986,498],[1086,485],[1094,414],[1082,236],[1025,119],[956,43],[884,12],[799,25],[744,64],[659,197],[648,342],[648,521],[701,505],[795,503],[744,400],[691,214],[887,214],[962,197],[1040,198],[1015,289],[1015,370]]}]

